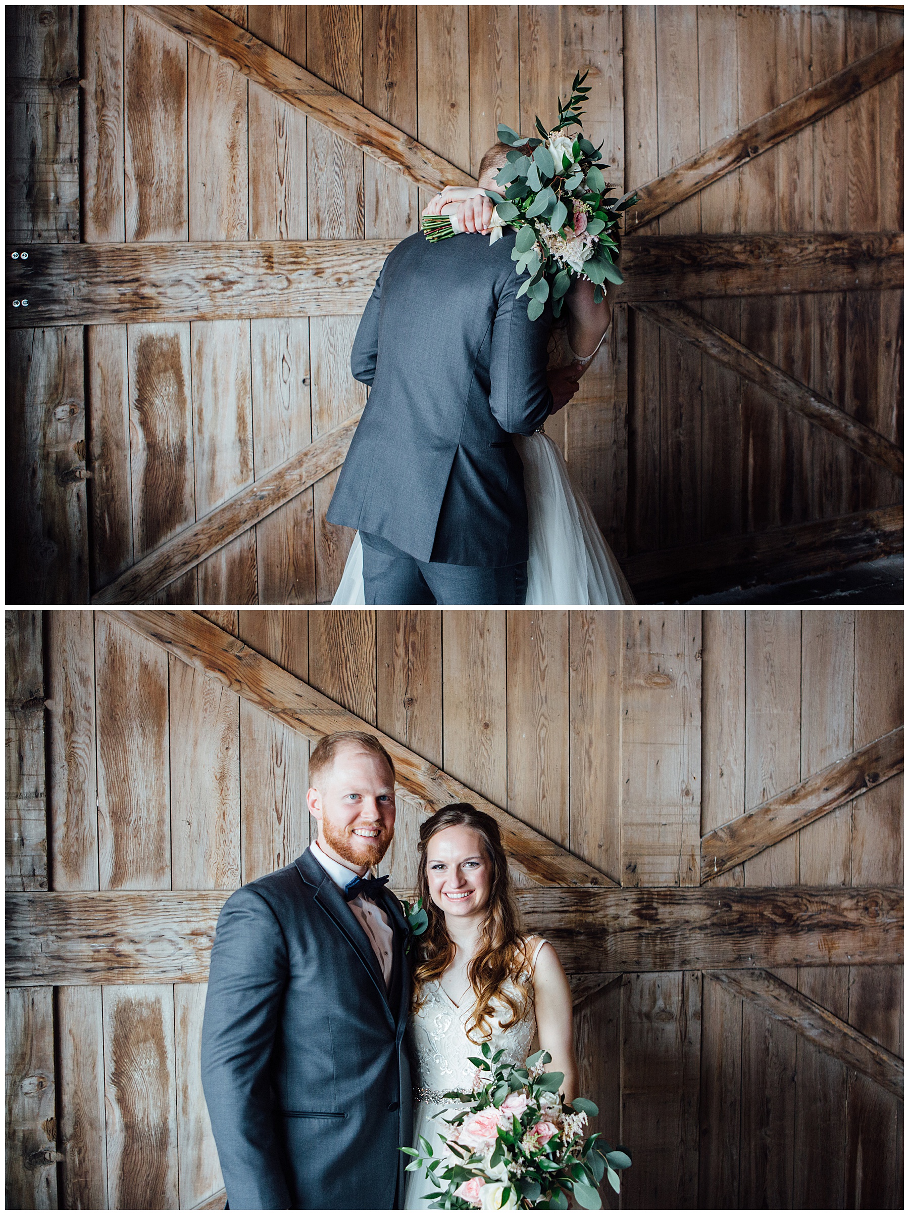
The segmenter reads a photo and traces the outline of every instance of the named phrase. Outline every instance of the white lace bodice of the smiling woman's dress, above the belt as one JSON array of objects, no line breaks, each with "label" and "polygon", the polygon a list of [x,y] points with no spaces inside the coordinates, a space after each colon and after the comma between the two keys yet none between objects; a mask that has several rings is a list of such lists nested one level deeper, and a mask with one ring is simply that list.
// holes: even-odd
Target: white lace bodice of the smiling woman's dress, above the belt
[{"label": "white lace bodice of the smiling woman's dress, above the belt", "polygon": [[[534,961],[542,944],[541,940],[536,945]],[[476,1030],[473,1039],[467,1036],[475,1004],[472,991],[467,991],[460,1006],[455,1005],[438,981],[427,983],[424,993],[424,1004],[411,1015],[409,1027],[411,1058],[416,1064],[415,1097],[417,1101],[436,1103],[441,1101],[443,1092],[451,1089],[468,1092],[473,1087],[476,1068],[467,1061],[467,1056],[479,1055],[482,1040]],[[516,989],[513,994],[518,994]],[[536,1036],[533,1001],[527,1013],[507,1028],[502,1028],[500,1022],[511,1019],[509,1006],[502,1004],[494,1008],[495,1016],[490,1018],[493,1034],[488,1039],[493,1053],[504,1050],[502,1062],[523,1063]]]}]

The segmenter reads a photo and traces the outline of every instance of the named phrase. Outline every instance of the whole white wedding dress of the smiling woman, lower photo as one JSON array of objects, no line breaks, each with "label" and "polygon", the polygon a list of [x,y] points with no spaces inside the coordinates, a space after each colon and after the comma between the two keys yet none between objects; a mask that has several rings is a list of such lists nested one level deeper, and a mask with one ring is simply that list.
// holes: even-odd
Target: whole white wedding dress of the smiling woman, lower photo
[{"label": "whole white wedding dress of the smiling woman, lower photo", "polygon": [[[545,940],[539,940],[534,948],[530,960],[532,972],[542,945],[545,945]],[[477,1041],[467,1038],[466,1027],[475,1004],[472,989],[467,990],[459,1005],[451,1000],[438,981],[427,983],[425,994],[426,1000],[422,1007],[411,1015],[408,1027],[410,1057],[415,1069],[413,1146],[419,1149],[422,1135],[432,1145],[433,1154],[438,1155],[443,1147],[439,1142],[439,1134],[445,1135],[445,1137],[450,1135],[450,1128],[439,1115],[450,1117],[451,1113],[464,1109],[460,1103],[445,1103],[441,1100],[442,1095],[454,1089],[459,1089],[461,1092],[472,1090],[477,1069],[468,1062],[467,1057],[470,1055],[479,1056],[481,1041],[478,1034],[475,1034]],[[501,1028],[500,1019],[511,1019],[511,1010],[507,1005],[501,1006],[501,1018],[496,1010],[496,1016],[492,1021],[493,1035],[488,1039],[489,1045],[493,1053],[499,1050],[505,1051],[501,1058],[502,1063],[519,1066],[535,1050],[536,1013],[533,1004],[524,1017],[509,1025],[507,1029]],[[405,1177],[408,1180],[404,1191],[404,1209],[409,1211],[427,1210],[430,1203],[424,1199],[424,1196],[436,1192],[437,1187],[426,1176],[424,1169],[407,1172]]]}]

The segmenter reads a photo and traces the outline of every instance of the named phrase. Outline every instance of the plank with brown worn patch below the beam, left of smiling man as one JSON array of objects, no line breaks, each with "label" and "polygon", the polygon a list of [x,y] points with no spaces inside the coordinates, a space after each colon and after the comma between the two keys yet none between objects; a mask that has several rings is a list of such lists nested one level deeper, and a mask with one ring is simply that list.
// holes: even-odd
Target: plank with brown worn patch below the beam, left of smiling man
[{"label": "plank with brown worn patch below the beam, left of smiling man", "polygon": [[174,989],[106,987],[107,1205],[180,1205]]}]

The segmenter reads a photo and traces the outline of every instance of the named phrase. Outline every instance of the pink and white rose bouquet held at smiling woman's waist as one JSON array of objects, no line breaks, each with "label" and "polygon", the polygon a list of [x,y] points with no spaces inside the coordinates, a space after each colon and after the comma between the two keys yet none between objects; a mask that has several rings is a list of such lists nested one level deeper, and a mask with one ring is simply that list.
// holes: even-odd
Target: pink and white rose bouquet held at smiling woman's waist
[{"label": "pink and white rose bouquet held at smiling woman's waist", "polygon": [[631,1157],[612,1149],[600,1135],[584,1136],[587,1117],[598,1111],[578,1097],[567,1106],[558,1095],[564,1076],[544,1072],[551,1056],[538,1051],[525,1067],[501,1064],[502,1051],[492,1053],[483,1042],[483,1058],[471,1058],[477,1072],[473,1092],[447,1092],[445,1100],[466,1109],[444,1119],[453,1128],[439,1135],[442,1151],[433,1154],[422,1135],[420,1148],[402,1152],[415,1157],[408,1171],[424,1168],[437,1187],[424,1194],[437,1210],[567,1210],[569,1196],[587,1210],[600,1210],[597,1186],[607,1175],[619,1189],[619,1170]]}]

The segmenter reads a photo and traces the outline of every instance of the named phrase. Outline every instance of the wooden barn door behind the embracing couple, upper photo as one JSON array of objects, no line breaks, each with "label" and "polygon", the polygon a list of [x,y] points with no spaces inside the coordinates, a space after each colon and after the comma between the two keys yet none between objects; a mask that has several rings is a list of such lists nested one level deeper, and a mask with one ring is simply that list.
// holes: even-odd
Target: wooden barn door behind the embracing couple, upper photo
[{"label": "wooden barn door behind the embracing couple, upper photo", "polygon": [[640,198],[608,341],[547,429],[638,599],[901,550],[902,28],[8,9],[15,601],[329,601],[374,277],[428,191],[471,182],[498,122],[549,122],[578,68]]}]

